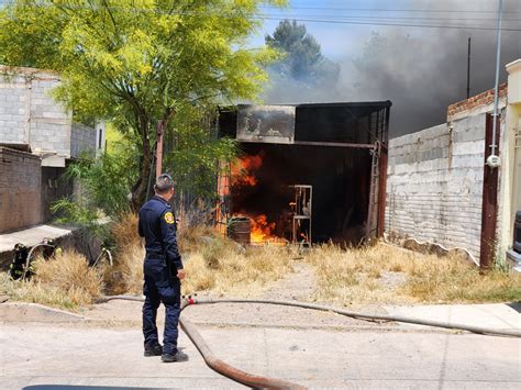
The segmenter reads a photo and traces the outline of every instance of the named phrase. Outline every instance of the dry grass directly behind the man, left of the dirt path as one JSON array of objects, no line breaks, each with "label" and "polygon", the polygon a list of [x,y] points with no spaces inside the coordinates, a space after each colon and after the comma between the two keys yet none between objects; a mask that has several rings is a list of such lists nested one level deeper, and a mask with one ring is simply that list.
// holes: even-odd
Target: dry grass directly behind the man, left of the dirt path
[{"label": "dry grass directly behind the man, left of the dirt path", "polygon": [[[130,215],[114,225],[118,253],[114,266],[103,269],[109,293],[141,293],[144,249],[137,237],[137,219]],[[208,226],[185,229],[179,234],[187,278],[182,292],[252,294],[290,271],[290,255],[277,247],[242,248]],[[286,252],[286,254],[284,254]]]}]

